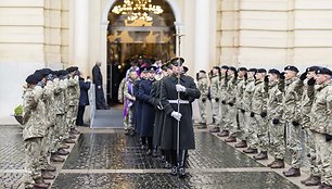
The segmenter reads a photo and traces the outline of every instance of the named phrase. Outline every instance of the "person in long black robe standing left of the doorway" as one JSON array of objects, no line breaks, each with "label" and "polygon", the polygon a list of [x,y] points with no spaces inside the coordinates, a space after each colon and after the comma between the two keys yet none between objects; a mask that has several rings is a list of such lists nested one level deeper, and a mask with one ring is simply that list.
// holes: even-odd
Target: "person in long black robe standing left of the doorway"
[{"label": "person in long black robe standing left of the doorway", "polygon": [[105,110],[106,101],[103,90],[103,76],[100,72],[101,62],[97,62],[92,68],[93,84],[95,85],[95,109]]}]

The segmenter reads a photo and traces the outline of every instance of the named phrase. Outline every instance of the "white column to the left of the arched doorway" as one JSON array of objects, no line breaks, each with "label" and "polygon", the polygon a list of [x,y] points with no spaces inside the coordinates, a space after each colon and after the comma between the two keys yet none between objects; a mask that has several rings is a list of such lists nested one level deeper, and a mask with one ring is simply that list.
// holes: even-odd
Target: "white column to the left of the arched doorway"
[{"label": "white column to the left of the arched doorway", "polygon": [[74,62],[84,74],[89,61],[89,0],[75,0]]}]

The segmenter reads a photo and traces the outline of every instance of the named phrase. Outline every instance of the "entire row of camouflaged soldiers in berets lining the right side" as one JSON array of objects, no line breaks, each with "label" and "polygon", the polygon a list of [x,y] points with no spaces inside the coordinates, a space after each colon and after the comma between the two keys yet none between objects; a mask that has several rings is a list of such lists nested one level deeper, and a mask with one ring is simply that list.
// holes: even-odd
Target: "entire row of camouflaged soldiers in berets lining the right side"
[{"label": "entire row of camouflaged soldiers in berets lining the right side", "polygon": [[[199,72],[199,128],[207,128],[206,102],[210,100],[210,133],[227,137],[226,142],[239,139],[235,148],[246,148],[243,152],[256,154],[256,160],[267,160],[270,152],[274,158],[268,165],[271,168],[284,168],[289,151],[292,161],[291,168],[283,172],[285,177],[301,176],[305,147],[310,177],[302,184],[331,189],[332,72],[310,66],[298,73],[292,65],[283,72],[227,65],[214,66],[208,76]],[[301,140],[302,133],[305,140]]]}]

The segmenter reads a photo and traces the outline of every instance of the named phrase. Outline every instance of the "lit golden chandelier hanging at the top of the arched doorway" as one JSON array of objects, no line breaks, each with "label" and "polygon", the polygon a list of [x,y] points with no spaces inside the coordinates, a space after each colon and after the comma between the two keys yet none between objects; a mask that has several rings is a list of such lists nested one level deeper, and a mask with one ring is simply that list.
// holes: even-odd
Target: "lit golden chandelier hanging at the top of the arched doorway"
[{"label": "lit golden chandelier hanging at the top of the arched doorway", "polygon": [[143,20],[151,22],[151,14],[161,14],[163,9],[159,5],[151,4],[152,0],[124,0],[124,4],[116,5],[112,12],[127,15],[128,21]]}]

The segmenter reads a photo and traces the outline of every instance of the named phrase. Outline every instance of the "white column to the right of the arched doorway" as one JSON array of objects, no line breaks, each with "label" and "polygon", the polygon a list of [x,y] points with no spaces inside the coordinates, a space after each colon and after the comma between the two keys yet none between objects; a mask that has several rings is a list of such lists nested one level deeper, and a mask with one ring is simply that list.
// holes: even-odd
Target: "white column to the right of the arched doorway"
[{"label": "white column to the right of the arched doorway", "polygon": [[209,3],[206,0],[196,0],[194,73],[200,70],[208,72],[212,60],[209,58]]}]

